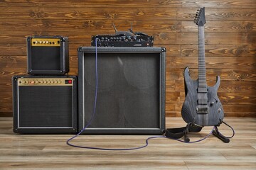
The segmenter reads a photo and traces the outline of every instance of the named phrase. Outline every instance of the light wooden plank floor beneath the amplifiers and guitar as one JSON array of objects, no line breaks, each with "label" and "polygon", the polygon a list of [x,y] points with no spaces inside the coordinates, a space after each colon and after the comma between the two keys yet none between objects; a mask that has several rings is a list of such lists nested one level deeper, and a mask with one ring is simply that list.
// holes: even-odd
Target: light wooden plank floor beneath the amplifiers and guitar
[{"label": "light wooden plank floor beneath the amplifiers and guitar", "polygon": [[[73,135],[17,135],[12,118],[0,118],[0,169],[256,169],[256,118],[225,118],[235,137],[225,144],[211,135],[186,144],[158,138],[132,151],[102,151],[69,147]],[[166,128],[185,125],[181,118],[166,118]],[[190,135],[201,139],[211,128]],[[230,129],[220,126],[223,135]],[[76,145],[91,147],[139,147],[149,135],[82,135]]]}]

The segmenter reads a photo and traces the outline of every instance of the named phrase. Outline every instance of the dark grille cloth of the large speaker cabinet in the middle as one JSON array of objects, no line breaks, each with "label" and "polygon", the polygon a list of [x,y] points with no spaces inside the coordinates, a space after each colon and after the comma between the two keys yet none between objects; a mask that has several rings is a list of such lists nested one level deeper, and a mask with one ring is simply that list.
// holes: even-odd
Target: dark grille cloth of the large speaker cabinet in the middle
[{"label": "dark grille cloth of the large speaker cabinet in the middle", "polygon": [[[96,115],[89,128],[159,128],[159,53],[98,53]],[[95,53],[85,53],[85,125],[93,113]]]}]

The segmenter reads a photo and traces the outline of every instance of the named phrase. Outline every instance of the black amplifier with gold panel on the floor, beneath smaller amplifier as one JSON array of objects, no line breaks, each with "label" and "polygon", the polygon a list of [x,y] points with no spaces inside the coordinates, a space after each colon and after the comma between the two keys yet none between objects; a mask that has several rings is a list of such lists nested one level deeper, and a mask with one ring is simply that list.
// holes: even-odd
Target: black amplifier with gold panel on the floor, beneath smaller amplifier
[{"label": "black amplifier with gold panel on the floor, beneath smaller amplifier", "polygon": [[14,132],[77,132],[77,77],[15,76],[12,81]]}]

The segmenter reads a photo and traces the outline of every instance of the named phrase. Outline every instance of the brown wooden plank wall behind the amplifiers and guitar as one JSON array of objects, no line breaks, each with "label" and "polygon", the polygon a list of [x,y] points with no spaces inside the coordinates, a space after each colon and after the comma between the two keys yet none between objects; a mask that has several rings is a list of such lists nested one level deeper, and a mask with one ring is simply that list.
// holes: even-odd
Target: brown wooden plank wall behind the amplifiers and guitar
[{"label": "brown wooden plank wall behind the amplifiers and guitar", "polygon": [[118,30],[154,36],[166,47],[166,115],[180,116],[183,69],[197,77],[196,10],[206,7],[208,84],[220,75],[218,91],[225,116],[256,116],[255,0],[3,0],[0,1],[0,116],[12,115],[11,77],[26,74],[26,37],[63,35],[70,39],[70,74],[78,74],[77,48],[91,35]]}]

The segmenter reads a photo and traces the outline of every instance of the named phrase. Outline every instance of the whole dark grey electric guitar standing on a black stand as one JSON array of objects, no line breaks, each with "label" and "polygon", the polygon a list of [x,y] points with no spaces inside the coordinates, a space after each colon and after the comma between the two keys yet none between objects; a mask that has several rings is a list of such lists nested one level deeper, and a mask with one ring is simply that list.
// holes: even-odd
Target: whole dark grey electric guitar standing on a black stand
[{"label": "whole dark grey electric guitar standing on a black stand", "polygon": [[217,96],[220,77],[216,77],[214,86],[206,84],[206,56],[204,40],[204,24],[206,23],[205,8],[196,13],[198,25],[198,79],[189,76],[189,69],[184,71],[186,99],[181,109],[181,115],[186,123],[198,126],[220,125],[224,118],[223,106]]}]

